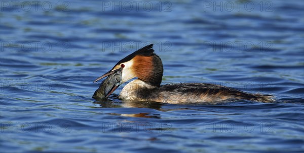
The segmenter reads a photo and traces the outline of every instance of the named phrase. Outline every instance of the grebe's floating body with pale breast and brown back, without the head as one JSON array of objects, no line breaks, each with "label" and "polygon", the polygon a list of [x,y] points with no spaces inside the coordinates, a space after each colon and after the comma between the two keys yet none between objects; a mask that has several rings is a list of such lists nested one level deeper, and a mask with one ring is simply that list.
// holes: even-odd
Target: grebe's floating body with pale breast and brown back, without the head
[{"label": "grebe's floating body with pale breast and brown back, without the head", "polygon": [[156,87],[146,85],[141,80],[134,80],[128,83],[121,91],[119,98],[169,104],[196,104],[237,99],[261,102],[274,100],[272,95],[251,94],[210,83],[178,83]]}]

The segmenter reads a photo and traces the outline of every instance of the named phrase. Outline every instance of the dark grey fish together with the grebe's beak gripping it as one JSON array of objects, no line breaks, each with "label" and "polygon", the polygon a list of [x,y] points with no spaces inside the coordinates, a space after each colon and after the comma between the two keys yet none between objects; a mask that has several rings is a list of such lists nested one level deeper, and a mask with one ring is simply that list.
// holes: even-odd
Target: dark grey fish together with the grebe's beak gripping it
[{"label": "dark grey fish together with the grebe's beak gripping it", "polygon": [[97,82],[98,80],[107,76],[107,78],[101,82],[99,88],[93,94],[93,98],[106,98],[113,93],[122,84],[122,69],[123,68],[109,71],[97,78],[94,82]]}]

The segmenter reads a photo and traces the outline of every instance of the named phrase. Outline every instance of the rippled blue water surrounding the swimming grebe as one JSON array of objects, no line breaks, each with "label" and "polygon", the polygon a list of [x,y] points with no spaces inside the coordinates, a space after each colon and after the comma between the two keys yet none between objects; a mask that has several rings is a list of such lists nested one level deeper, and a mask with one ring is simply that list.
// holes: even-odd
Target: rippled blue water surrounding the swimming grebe
[{"label": "rippled blue water surrounding the swimming grebe", "polygon": [[[1,1],[0,152],[304,150],[303,1]],[[275,103],[91,98],[154,43],[162,84],[208,82]]]}]

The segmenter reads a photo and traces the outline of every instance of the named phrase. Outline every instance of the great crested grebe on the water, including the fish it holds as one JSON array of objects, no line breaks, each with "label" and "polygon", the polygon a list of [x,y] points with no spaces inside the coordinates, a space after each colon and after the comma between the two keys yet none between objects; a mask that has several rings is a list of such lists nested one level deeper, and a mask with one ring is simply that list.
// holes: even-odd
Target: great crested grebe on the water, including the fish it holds
[{"label": "great crested grebe on the water, including the fish it holds", "polygon": [[178,83],[161,85],[163,64],[147,45],[120,60],[110,71],[94,82],[109,76],[95,91],[93,98],[109,96],[122,83],[137,77],[122,89],[119,98],[135,101],[157,101],[170,104],[201,103],[246,99],[273,102],[274,96],[246,93],[234,88],[210,83]]}]

